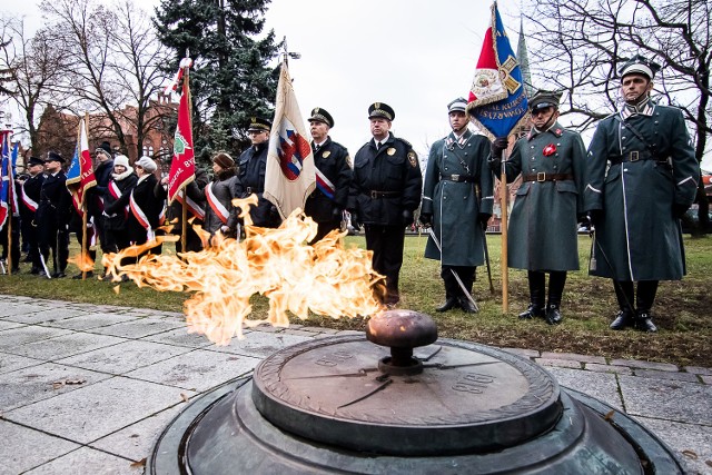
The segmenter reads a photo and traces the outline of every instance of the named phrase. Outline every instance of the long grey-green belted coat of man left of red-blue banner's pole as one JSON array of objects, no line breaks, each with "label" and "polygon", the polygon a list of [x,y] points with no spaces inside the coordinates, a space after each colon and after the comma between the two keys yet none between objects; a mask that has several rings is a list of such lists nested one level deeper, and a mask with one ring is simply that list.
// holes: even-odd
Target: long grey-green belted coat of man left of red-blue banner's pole
[{"label": "long grey-green belted coat of man left of red-blue banner's pole", "polygon": [[477,215],[492,215],[494,205],[488,154],[490,140],[469,130],[459,139],[453,132],[431,147],[421,212],[433,215],[443,253],[431,237],[425,257],[446,266],[484,264],[484,232]]}]

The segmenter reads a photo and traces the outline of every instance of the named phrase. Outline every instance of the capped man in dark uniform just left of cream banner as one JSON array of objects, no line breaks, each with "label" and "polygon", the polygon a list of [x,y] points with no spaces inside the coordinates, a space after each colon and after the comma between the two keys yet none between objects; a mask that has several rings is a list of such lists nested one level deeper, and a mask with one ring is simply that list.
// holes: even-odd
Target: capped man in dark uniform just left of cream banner
[{"label": "capped man in dark uniform just left of cream banner", "polygon": [[238,161],[238,178],[244,186],[243,198],[251,194],[257,195],[257,206],[249,210],[254,226],[263,228],[276,228],[281,224],[279,211],[267,198],[265,192],[265,172],[267,171],[267,150],[269,148],[269,130],[271,122],[267,119],[253,117],[247,133],[251,141]]}]

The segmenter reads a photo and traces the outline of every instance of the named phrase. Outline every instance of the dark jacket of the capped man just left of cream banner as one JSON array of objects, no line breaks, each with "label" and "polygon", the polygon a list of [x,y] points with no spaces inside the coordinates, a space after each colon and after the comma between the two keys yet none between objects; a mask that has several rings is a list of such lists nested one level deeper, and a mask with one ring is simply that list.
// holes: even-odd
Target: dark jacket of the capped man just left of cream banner
[{"label": "dark jacket of the capped man just left of cream banner", "polygon": [[267,171],[267,145],[259,144],[257,147],[250,146],[245,150],[239,162],[238,178],[245,190],[240,198],[246,198],[251,194],[257,195],[257,206],[249,210],[253,225],[266,228],[276,228],[279,226],[281,218],[275,205],[264,197],[265,192],[265,174]]}]

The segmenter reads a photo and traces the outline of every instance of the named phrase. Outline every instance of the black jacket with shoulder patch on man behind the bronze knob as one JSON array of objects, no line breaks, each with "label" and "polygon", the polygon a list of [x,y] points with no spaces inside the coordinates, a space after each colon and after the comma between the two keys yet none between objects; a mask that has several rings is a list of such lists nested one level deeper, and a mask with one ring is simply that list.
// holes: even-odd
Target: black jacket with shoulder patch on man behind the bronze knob
[{"label": "black jacket with shoulder patch on man behind the bronze knob", "polygon": [[418,207],[422,187],[423,176],[413,147],[388,133],[378,150],[369,140],[356,152],[348,209],[365,225],[406,226],[409,222],[404,222],[403,211]]}]

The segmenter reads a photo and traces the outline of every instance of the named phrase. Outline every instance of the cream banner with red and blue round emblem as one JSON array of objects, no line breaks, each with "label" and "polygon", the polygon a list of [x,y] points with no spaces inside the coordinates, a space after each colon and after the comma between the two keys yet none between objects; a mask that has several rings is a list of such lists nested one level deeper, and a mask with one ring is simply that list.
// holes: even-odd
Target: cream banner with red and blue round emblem
[{"label": "cream banner with red and blue round emblem", "polygon": [[307,197],[316,187],[314,156],[285,62],[281,63],[275,102],[264,196],[285,219],[295,209],[304,209]]}]

